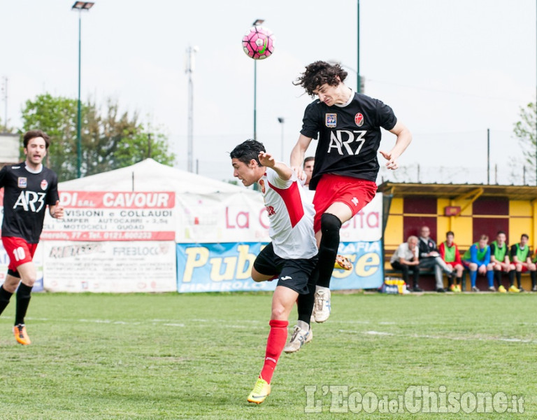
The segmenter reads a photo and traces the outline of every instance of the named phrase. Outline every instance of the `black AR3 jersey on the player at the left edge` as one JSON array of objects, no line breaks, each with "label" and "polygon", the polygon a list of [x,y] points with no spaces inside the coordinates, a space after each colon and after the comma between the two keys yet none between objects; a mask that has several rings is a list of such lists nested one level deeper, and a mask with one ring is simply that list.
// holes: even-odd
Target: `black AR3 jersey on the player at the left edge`
[{"label": "black AR3 jersey on the player at the left edge", "polygon": [[54,171],[42,167],[41,172],[29,172],[25,162],[8,165],[0,170],[3,187],[3,237],[20,237],[37,244],[47,204],[58,199],[58,178]]}]

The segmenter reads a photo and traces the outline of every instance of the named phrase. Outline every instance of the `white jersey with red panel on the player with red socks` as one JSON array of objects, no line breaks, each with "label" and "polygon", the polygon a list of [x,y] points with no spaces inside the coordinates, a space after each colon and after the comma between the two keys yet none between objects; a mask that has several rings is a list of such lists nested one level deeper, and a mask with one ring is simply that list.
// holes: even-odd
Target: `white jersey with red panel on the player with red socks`
[{"label": "white jersey with red panel on the player with red socks", "polygon": [[266,168],[259,186],[263,194],[274,253],[280,258],[294,260],[317,255],[313,232],[315,209],[306,198],[296,174],[285,181],[271,168]]}]

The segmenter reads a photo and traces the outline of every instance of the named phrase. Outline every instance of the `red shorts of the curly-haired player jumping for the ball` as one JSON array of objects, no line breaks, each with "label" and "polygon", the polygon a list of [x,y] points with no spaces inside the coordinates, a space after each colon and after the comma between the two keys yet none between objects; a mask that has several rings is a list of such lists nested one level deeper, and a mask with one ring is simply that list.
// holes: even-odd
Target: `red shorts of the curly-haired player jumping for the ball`
[{"label": "red shorts of the curly-haired player jumping for the ball", "polygon": [[315,219],[313,229],[321,230],[321,216],[334,203],[341,202],[348,205],[355,216],[366,204],[373,200],[377,192],[377,184],[366,179],[352,178],[351,176],[324,174],[313,197],[315,206]]}]

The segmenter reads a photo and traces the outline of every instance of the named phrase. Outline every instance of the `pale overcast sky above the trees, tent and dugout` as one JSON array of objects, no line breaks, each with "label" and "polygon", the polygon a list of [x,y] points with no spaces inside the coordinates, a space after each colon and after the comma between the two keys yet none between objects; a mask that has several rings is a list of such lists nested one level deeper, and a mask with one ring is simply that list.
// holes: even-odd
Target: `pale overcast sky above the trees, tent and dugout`
[{"label": "pale overcast sky above the trees, tent and dugout", "polygon": [[[0,0],[9,125],[20,127],[24,102],[38,94],[77,97],[73,2]],[[185,50],[198,46],[194,158],[200,174],[231,179],[229,151],[253,136],[254,61],[241,38],[257,18],[276,36],[273,56],[257,64],[257,139],[280,158],[283,137],[288,162],[312,100],[292,85],[304,66],[338,60],[356,87],[356,0],[96,0],[82,16],[83,100],[115,98],[162,127],[186,169]],[[361,0],[365,93],[413,132],[400,180],[416,181],[419,163],[422,181],[487,181],[489,128],[492,168],[510,182],[508,162],[520,157],[513,124],[536,100],[536,50],[535,0]],[[2,95],[1,120],[4,113]],[[385,134],[381,148],[393,143]]]}]

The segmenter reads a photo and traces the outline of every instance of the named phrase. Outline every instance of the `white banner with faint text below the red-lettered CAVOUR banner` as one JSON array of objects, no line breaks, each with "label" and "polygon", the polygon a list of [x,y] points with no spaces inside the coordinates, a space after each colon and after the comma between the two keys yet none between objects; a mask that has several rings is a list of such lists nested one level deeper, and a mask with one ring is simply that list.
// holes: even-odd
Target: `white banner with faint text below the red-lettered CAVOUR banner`
[{"label": "white banner with faint text below the red-lettered CAVOUR banner", "polygon": [[173,241],[43,241],[50,292],[177,290]]}]

